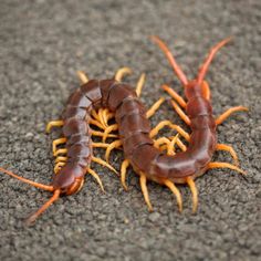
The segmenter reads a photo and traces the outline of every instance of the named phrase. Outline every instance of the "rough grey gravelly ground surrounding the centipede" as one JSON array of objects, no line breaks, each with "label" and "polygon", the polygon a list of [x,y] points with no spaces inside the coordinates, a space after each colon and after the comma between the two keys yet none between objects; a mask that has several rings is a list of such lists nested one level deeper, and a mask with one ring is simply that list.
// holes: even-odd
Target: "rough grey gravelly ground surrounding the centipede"
[{"label": "rough grey gravelly ground surrounding the centipede", "polygon": [[[180,83],[148,35],[161,36],[189,77],[210,46],[233,35],[207,74],[215,115],[246,105],[219,126],[219,142],[233,146],[243,178],[228,169],[197,179],[199,209],[191,215],[189,188],[180,186],[184,212],[171,192],[149,182],[149,213],[128,171],[129,191],[107,169],[95,166],[106,194],[92,177],[77,195],[61,198],[33,227],[23,219],[46,191],[0,175],[1,260],[261,260],[260,22],[259,0],[239,1],[8,1],[0,2],[0,163],[23,177],[49,184],[54,160],[45,124],[59,118],[79,86],[76,70],[106,79],[123,65],[135,85],[147,73],[143,101],[152,105],[169,83]],[[259,28],[258,28],[259,27]],[[259,69],[258,69],[259,67]],[[153,126],[168,118],[184,125],[166,103]],[[160,135],[169,135],[169,130]],[[103,150],[95,152],[103,155]],[[119,168],[121,152],[111,157]],[[231,161],[227,153],[216,160]]]}]

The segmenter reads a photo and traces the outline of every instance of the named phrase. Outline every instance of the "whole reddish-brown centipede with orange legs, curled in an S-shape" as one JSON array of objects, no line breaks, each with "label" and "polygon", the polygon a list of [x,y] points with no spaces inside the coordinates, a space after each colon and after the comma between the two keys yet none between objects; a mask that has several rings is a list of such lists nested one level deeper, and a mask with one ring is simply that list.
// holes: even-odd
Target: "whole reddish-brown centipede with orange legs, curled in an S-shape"
[{"label": "whole reddish-brown centipede with orange legs, curled in an S-shape", "polygon": [[[27,219],[28,223],[33,223],[61,195],[69,196],[80,191],[86,174],[91,174],[104,190],[98,175],[91,169],[91,163],[102,164],[116,173],[108,164],[109,154],[114,148],[122,148],[125,155],[121,167],[123,187],[127,189],[126,170],[128,166],[132,166],[139,176],[142,192],[149,210],[153,210],[153,206],[149,200],[147,180],[168,187],[176,196],[179,211],[182,210],[182,198],[176,184],[187,184],[192,194],[192,211],[196,212],[198,191],[195,179],[197,177],[212,168],[230,168],[240,174],[246,174],[238,167],[238,157],[233,148],[217,143],[216,128],[233,112],[248,111],[248,108],[243,106],[232,107],[215,118],[210,102],[210,88],[208,83],[203,81],[215,54],[230,39],[221,41],[211,49],[199,70],[198,76],[192,81],[187,80],[167,45],[157,36],[152,36],[152,39],[164,51],[184,85],[187,102],[168,85],[163,85],[163,88],[173,97],[173,107],[189,125],[191,134],[189,135],[170,121],[163,121],[156,127],[150,127],[149,117],[155,114],[165,100],[160,97],[149,109],[146,109],[139,100],[145,82],[144,74],[140,76],[135,91],[121,81],[124,74],[129,73],[128,67],[119,70],[111,80],[88,80],[86,74],[80,71],[79,76],[83,84],[70,96],[62,119],[50,122],[46,127],[48,133],[53,127],[62,127],[62,137],[53,142],[53,155],[56,157],[56,165],[52,184],[39,184],[0,168],[0,171],[9,176],[53,194],[36,212]],[[180,107],[186,109],[187,115]],[[108,119],[112,117],[115,118],[116,123],[108,125]],[[95,125],[104,132],[94,130],[90,125]],[[158,132],[165,126],[175,129],[178,135],[182,136],[189,143],[188,147],[178,135],[155,139]],[[118,134],[113,134],[115,130]],[[92,142],[92,135],[102,136],[103,142]],[[117,139],[106,144],[107,137],[117,137]],[[163,147],[160,147],[163,144],[167,147],[167,153],[163,152]],[[174,152],[176,144],[182,152]],[[65,145],[65,148],[60,148],[61,145]],[[106,148],[106,161],[93,156],[93,147]],[[234,165],[211,161],[216,150],[229,152],[234,159]]]}]

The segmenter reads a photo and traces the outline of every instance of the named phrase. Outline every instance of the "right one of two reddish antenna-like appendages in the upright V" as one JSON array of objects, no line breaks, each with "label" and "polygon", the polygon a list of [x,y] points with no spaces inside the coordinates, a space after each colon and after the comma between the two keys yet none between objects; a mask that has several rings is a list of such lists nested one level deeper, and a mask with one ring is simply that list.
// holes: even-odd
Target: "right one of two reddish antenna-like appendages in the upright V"
[{"label": "right one of two reddish antenna-like appendages in the upright V", "polygon": [[225,39],[223,41],[219,42],[217,45],[215,45],[207,59],[205,60],[202,66],[199,69],[199,72],[198,72],[198,77],[197,77],[197,82],[199,85],[201,85],[202,81],[203,81],[203,77],[209,69],[209,64],[211,63],[211,61],[213,60],[213,56],[215,54],[219,51],[219,49],[221,49],[225,44],[227,44],[228,42],[230,42],[232,40],[232,38],[227,38]]}]

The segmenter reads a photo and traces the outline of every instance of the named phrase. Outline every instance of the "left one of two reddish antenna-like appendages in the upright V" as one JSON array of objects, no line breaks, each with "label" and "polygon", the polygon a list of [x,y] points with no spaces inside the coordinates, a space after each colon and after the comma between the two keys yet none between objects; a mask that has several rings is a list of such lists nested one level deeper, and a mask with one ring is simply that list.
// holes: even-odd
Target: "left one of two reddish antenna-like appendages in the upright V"
[{"label": "left one of two reddish antenna-like appendages in the upright V", "polygon": [[184,86],[186,86],[188,84],[188,80],[185,75],[185,73],[182,72],[181,67],[177,64],[174,55],[171,54],[170,50],[168,49],[167,44],[165,42],[163,42],[158,36],[156,35],[152,35],[150,39],[158,44],[158,46],[163,50],[163,52],[165,53],[165,55],[168,59],[168,62],[170,63],[170,65],[174,69],[174,72],[177,74],[178,79],[180,80],[180,82],[184,84]]}]

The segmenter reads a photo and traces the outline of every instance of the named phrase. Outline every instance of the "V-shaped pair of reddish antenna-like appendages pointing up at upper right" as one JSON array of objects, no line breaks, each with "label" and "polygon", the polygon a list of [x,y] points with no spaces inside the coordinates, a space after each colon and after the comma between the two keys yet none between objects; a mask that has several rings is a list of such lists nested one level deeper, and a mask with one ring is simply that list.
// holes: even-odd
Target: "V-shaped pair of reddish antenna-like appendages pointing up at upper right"
[{"label": "V-shaped pair of reddish antenna-like appendages pointing up at upper right", "polygon": [[[171,54],[171,52],[169,51],[168,46],[166,45],[166,43],[164,41],[161,41],[158,36],[150,36],[152,40],[154,42],[156,42],[159,48],[163,50],[163,52],[165,53],[165,55],[168,59],[168,62],[170,63],[170,65],[174,69],[174,72],[177,74],[178,79],[180,80],[180,82],[182,83],[184,86],[187,86],[188,84],[188,79],[185,75],[185,73],[182,72],[181,67],[178,65],[178,63],[176,62],[174,55]],[[211,63],[211,61],[213,60],[215,54],[219,51],[219,49],[221,49],[225,44],[227,44],[228,42],[231,41],[231,38],[227,38],[225,40],[222,40],[221,42],[219,42],[218,44],[216,44],[209,52],[207,59],[205,60],[202,66],[199,69],[198,72],[198,76],[197,76],[197,83],[198,85],[202,84],[202,81],[205,79],[205,75],[208,71],[208,67]]]}]

